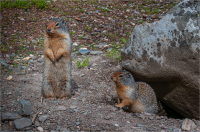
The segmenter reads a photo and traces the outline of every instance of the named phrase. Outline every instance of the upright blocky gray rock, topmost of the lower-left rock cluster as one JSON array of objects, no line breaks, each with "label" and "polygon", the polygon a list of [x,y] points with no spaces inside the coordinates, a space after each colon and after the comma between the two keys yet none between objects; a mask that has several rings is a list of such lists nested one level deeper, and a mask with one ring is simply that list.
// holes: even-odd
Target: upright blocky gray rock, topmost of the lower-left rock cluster
[{"label": "upright blocky gray rock, topmost of the lower-left rock cluster", "polygon": [[31,110],[32,108],[28,101],[23,99],[19,100],[19,113],[21,115],[26,115],[26,116],[31,115]]}]

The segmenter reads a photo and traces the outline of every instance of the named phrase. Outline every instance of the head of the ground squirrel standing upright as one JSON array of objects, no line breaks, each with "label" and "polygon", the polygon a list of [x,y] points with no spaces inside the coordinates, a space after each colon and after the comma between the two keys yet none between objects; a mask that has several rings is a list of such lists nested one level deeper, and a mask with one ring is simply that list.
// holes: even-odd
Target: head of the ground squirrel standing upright
[{"label": "head of the ground squirrel standing upright", "polygon": [[62,37],[63,31],[66,30],[65,22],[61,18],[52,18],[46,21],[46,34],[49,37]]}]

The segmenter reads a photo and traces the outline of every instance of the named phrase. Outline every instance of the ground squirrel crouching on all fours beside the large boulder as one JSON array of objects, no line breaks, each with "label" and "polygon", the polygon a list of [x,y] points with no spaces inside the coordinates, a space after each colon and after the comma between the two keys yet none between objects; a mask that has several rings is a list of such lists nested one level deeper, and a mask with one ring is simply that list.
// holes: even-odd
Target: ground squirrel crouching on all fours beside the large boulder
[{"label": "ground squirrel crouching on all fours beside the large boulder", "polygon": [[115,72],[111,79],[116,84],[117,107],[128,106],[133,113],[158,112],[156,95],[148,84],[135,82],[132,74],[125,70]]}]

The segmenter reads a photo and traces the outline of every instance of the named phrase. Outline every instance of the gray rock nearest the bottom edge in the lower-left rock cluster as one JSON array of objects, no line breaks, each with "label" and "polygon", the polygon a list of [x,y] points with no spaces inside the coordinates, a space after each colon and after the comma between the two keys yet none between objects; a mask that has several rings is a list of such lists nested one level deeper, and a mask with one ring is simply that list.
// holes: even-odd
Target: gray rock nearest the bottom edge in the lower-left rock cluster
[{"label": "gray rock nearest the bottom edge in the lower-left rock cluster", "polygon": [[31,126],[32,122],[29,118],[21,118],[14,120],[14,124],[17,130],[22,130],[26,127]]}]

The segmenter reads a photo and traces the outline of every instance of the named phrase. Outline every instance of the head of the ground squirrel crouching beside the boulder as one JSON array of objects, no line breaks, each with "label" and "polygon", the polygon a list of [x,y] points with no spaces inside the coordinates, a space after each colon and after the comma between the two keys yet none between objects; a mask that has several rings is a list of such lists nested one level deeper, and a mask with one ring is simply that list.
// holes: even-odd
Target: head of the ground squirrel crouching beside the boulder
[{"label": "head of the ground squirrel crouching beside the boulder", "polygon": [[116,84],[123,85],[128,85],[129,83],[135,81],[132,74],[125,70],[115,72],[112,75],[111,80],[113,80],[113,82],[115,82]]}]

